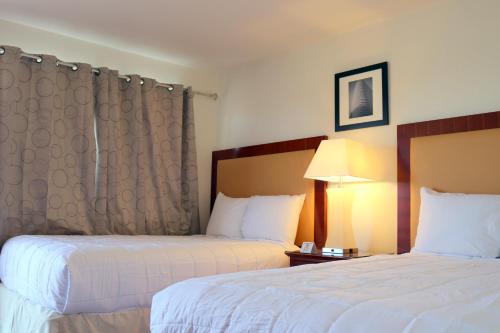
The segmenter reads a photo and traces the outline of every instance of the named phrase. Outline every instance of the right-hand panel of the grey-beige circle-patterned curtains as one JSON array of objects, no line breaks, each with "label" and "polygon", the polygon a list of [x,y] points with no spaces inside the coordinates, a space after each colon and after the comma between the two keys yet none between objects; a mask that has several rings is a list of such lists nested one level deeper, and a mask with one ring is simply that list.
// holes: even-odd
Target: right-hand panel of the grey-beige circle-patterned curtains
[{"label": "right-hand panel of the grey-beige circle-patterned curtains", "polygon": [[97,212],[107,232],[199,232],[191,91],[101,69],[96,77]]}]

